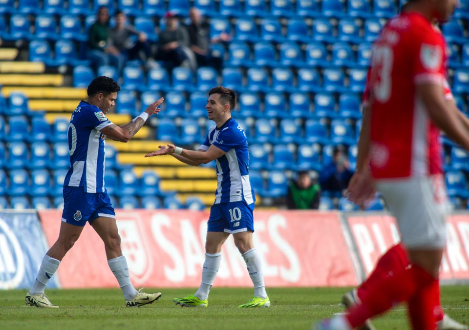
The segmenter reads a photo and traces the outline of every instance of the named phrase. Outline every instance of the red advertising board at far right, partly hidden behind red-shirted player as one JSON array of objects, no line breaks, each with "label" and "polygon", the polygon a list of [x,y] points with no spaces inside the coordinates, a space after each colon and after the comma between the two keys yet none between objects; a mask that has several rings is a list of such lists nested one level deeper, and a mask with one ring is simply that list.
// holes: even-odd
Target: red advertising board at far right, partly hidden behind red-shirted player
[{"label": "red advertising board at far right, partly hidden behind red-shirted player", "polygon": [[[379,257],[399,242],[395,219],[384,214],[361,214],[347,217],[350,231],[365,274],[369,274]],[[469,215],[448,217],[448,241],[440,268],[442,280],[469,279]]]}]

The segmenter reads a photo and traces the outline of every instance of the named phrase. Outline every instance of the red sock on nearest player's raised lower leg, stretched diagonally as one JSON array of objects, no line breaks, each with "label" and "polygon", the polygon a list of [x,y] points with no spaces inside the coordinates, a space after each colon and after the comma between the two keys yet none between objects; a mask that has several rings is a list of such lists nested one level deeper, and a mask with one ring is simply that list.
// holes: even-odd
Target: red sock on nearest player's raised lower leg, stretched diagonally
[{"label": "red sock on nearest player's raised lower leg, stretched diagonally", "polygon": [[[347,311],[346,318],[352,328],[356,328],[372,316],[381,314],[402,301],[407,301],[417,291],[434,281],[433,277],[419,266],[413,265],[403,269],[370,288],[361,298],[362,302]],[[434,299],[431,300],[434,304]]]}]

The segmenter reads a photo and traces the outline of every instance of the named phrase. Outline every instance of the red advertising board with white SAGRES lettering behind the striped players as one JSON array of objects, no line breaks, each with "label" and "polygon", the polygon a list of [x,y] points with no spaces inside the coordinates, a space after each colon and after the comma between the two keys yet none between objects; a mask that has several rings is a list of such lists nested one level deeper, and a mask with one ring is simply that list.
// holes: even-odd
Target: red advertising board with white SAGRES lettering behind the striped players
[{"label": "red advertising board with white SAGRES lettering behind the striped players", "polygon": [[[39,212],[49,245],[61,211]],[[117,210],[117,225],[136,287],[197,287],[204,262],[207,212]],[[358,284],[338,212],[255,211],[254,244],[267,286]],[[223,247],[215,286],[247,287],[251,280],[233,239]],[[58,271],[63,288],[115,287],[104,245],[86,226]]]}]

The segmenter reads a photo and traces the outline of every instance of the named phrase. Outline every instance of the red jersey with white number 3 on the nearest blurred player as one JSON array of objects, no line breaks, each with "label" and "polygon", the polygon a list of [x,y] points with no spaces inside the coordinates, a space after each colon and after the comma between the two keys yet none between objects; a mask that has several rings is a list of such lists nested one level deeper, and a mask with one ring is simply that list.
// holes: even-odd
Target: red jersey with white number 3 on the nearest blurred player
[{"label": "red jersey with white number 3 on the nearest blurred player", "polygon": [[389,21],[373,46],[370,168],[375,178],[442,173],[439,129],[416,95],[419,83],[445,86],[445,41],[418,13]]}]

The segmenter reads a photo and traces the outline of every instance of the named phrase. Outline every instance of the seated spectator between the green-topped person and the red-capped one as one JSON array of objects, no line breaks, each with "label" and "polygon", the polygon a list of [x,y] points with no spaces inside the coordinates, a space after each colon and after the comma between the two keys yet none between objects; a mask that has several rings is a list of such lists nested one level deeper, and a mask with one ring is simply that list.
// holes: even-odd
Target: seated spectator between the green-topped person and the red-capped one
[{"label": "seated spectator between the green-topped person and the red-capped one", "polygon": [[[150,56],[150,46],[147,34],[139,32],[131,25],[127,24],[127,17],[122,11],[118,10],[115,14],[116,25],[109,31],[109,45],[117,49],[120,58],[119,72],[126,65],[128,60],[139,60],[145,64]],[[137,38],[132,38],[137,36]]]}]

